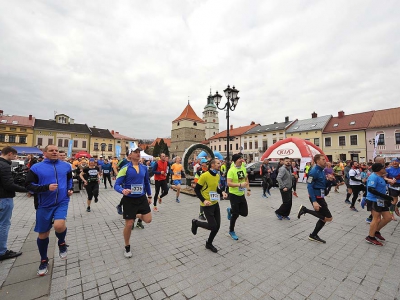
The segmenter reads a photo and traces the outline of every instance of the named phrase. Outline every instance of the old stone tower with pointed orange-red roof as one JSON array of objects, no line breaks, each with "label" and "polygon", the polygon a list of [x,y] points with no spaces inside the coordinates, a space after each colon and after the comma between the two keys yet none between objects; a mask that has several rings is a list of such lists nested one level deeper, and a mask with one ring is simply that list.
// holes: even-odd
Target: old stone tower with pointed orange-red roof
[{"label": "old stone tower with pointed orange-red roof", "polygon": [[180,116],[172,121],[170,156],[182,156],[190,145],[203,142],[205,132],[206,122],[188,103]]}]

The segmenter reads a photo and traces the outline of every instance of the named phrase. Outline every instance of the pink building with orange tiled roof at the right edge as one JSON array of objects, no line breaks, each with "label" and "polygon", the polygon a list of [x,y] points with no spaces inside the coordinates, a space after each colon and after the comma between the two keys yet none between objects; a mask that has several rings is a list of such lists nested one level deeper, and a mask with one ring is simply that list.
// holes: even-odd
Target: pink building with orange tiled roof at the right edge
[{"label": "pink building with orange tiled roof at the right edge", "polygon": [[400,107],[377,110],[366,131],[367,159],[373,159],[375,138],[376,155],[386,161],[400,157]]}]

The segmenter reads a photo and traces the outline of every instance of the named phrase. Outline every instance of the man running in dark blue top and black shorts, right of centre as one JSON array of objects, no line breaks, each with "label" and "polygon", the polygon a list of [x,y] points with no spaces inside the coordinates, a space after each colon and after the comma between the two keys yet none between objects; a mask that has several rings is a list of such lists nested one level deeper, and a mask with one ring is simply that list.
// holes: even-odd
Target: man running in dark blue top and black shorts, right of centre
[{"label": "man running in dark blue top and black shorts, right of centre", "polygon": [[[315,242],[326,243],[323,239],[318,236],[318,233],[324,227],[326,222],[332,221],[332,214],[329,211],[328,204],[324,197],[327,189],[327,180],[324,173],[326,166],[326,159],[321,154],[314,156],[315,166],[308,173],[307,178],[307,190],[310,196],[310,201],[313,205],[314,210],[310,210],[303,205],[300,205],[299,213],[297,218],[300,219],[302,215],[310,214],[318,218],[318,222],[315,225],[314,231],[308,236],[308,239]],[[333,179],[333,178],[332,178]]]}]

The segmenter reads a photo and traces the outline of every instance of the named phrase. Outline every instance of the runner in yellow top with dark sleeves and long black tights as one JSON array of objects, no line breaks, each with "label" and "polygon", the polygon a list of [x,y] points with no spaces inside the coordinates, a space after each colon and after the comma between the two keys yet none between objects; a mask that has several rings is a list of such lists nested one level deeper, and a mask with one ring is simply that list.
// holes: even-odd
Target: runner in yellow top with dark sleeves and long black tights
[{"label": "runner in yellow top with dark sleeves and long black tights", "polygon": [[210,235],[206,242],[206,248],[216,253],[218,252],[218,249],[215,248],[212,243],[221,226],[219,200],[221,196],[226,198],[227,195],[218,188],[220,177],[218,171],[220,169],[221,162],[218,159],[213,158],[209,165],[209,171],[200,175],[199,181],[194,189],[197,197],[201,201],[200,205],[204,208],[207,222],[200,222],[196,219],[193,219],[192,233],[196,235],[198,227],[210,230]]}]

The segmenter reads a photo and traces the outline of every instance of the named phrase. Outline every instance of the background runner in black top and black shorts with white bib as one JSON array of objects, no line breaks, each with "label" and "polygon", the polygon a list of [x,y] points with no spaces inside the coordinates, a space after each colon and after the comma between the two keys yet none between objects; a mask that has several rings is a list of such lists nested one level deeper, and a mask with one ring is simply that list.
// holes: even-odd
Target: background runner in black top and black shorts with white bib
[{"label": "background runner in black top and black shorts with white bib", "polygon": [[91,158],[89,160],[89,166],[84,168],[82,172],[79,174],[81,177],[84,187],[86,189],[88,199],[87,199],[87,208],[86,211],[90,212],[90,203],[94,197],[94,203],[99,201],[99,182],[100,182],[100,173],[99,167],[95,166],[94,159]]}]

